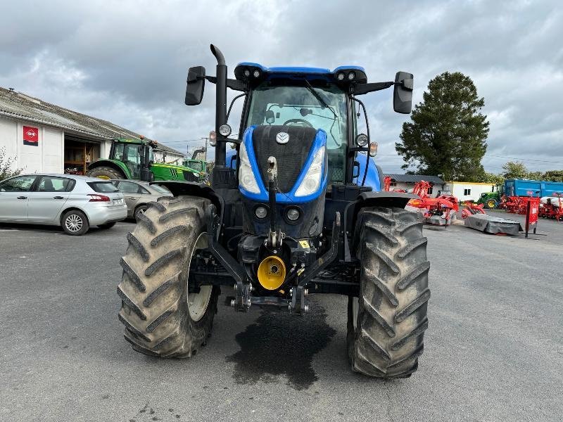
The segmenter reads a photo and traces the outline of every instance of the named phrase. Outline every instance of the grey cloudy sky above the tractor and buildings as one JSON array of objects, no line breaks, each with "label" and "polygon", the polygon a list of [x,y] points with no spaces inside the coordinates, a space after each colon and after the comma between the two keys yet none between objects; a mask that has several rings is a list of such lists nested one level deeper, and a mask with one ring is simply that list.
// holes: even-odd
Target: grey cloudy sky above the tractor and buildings
[{"label": "grey cloudy sky above the tractor and buildings", "polygon": [[[362,65],[371,82],[415,74],[415,102],[446,70],[474,80],[491,131],[483,159],[500,172],[563,167],[563,8],[559,1],[6,1],[0,86],[101,117],[185,151],[213,129],[214,87],[183,104],[187,68]],[[405,115],[391,91],[365,96],[379,163],[396,155]],[[229,98],[232,98],[230,94]],[[238,124],[231,122],[233,127]]]}]

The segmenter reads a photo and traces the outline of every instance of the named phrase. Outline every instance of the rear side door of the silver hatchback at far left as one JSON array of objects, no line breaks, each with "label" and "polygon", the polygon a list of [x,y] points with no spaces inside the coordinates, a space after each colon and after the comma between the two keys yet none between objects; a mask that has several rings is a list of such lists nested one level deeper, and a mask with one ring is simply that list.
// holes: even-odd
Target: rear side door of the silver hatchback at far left
[{"label": "rear side door of the silver hatchback at far left", "polygon": [[75,186],[75,180],[66,177],[41,176],[37,187],[30,192],[27,220],[30,223],[58,222],[58,214]]}]

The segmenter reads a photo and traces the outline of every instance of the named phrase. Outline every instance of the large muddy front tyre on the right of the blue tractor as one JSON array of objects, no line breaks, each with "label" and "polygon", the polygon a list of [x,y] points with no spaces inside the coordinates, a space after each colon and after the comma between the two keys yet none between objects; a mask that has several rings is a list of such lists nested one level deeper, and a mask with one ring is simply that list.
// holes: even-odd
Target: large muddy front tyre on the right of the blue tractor
[{"label": "large muddy front tyre on the right of the blue tractor", "polygon": [[358,215],[360,298],[348,299],[348,355],[356,372],[405,378],[417,370],[428,328],[429,262],[422,222],[402,208]]}]

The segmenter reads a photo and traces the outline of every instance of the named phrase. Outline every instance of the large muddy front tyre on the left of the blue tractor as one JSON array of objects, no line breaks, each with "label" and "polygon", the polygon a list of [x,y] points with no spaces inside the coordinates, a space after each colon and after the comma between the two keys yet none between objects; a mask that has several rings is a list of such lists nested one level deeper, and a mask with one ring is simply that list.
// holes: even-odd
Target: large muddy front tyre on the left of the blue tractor
[{"label": "large muddy front tyre on the left of the blue tractor", "polygon": [[207,245],[205,207],[194,196],[159,198],[137,217],[122,257],[119,319],[125,340],[137,352],[158,357],[191,357],[205,345],[217,312],[219,289],[202,286],[188,294],[194,250]]}]

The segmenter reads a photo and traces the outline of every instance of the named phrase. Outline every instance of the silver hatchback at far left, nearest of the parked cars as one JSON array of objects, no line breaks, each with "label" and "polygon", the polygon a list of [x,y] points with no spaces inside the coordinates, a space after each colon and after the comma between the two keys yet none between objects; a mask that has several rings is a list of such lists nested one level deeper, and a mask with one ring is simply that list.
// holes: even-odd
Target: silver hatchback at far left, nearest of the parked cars
[{"label": "silver hatchback at far left, nearest of the parked cars", "polygon": [[127,218],[109,180],[74,174],[27,174],[0,181],[0,222],[60,225],[72,236]]}]

